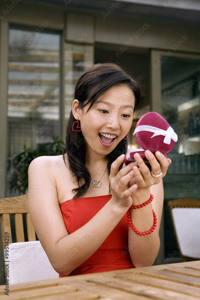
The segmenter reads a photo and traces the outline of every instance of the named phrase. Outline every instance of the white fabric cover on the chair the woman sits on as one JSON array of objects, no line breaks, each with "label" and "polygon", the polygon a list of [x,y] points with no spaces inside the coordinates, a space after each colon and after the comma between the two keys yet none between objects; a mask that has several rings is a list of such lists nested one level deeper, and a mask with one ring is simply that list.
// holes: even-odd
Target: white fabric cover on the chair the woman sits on
[{"label": "white fabric cover on the chair the woman sits on", "polygon": [[[9,284],[58,278],[40,241],[9,245]],[[6,263],[6,262],[5,262]]]}]

